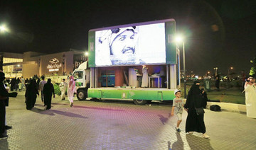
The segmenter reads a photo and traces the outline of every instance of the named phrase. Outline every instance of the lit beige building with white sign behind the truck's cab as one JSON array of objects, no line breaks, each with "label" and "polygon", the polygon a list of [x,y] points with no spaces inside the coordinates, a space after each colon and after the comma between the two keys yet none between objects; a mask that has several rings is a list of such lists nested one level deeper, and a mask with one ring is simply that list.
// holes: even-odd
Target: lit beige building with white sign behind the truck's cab
[{"label": "lit beige building with white sign behind the truck's cab", "polygon": [[32,76],[62,76],[73,72],[85,62],[84,52],[70,49],[67,52],[43,54],[40,52],[24,52],[23,54],[2,53],[3,71],[7,78]]}]

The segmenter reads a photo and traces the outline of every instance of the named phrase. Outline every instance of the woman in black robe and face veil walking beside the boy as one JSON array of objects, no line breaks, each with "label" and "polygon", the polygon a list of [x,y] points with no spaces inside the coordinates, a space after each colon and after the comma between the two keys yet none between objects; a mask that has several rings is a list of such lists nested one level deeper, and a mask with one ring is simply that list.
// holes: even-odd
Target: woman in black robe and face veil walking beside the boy
[{"label": "woman in black robe and face veil walking beside the boy", "polygon": [[199,81],[194,81],[190,91],[188,91],[188,98],[184,105],[185,110],[188,112],[188,117],[186,119],[186,132],[200,132],[203,133],[202,137],[209,138],[206,134],[206,126],[203,121],[204,114],[196,114],[196,108],[206,108],[207,104],[206,93],[199,89],[199,85]]}]

